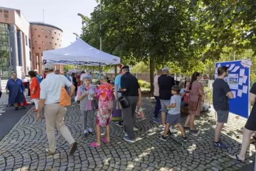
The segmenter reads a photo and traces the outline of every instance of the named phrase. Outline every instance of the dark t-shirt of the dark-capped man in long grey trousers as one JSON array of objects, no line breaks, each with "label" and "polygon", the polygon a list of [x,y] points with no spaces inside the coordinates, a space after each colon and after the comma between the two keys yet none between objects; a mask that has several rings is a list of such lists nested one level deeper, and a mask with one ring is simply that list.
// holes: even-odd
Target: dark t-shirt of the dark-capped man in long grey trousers
[{"label": "dark t-shirt of the dark-capped man in long grey trousers", "polygon": [[130,72],[126,72],[121,76],[121,88],[126,89],[122,92],[122,96],[139,96],[140,85],[138,80]]}]

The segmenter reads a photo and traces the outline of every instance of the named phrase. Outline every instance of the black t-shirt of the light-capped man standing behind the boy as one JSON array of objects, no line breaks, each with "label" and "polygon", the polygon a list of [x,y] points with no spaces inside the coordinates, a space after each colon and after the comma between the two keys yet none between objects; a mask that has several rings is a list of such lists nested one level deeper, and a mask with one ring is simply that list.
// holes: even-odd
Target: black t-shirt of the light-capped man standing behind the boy
[{"label": "black t-shirt of the light-capped man standing behind the boy", "polygon": [[172,87],[175,86],[175,81],[172,76],[163,74],[158,78],[159,98],[169,100],[172,97]]}]

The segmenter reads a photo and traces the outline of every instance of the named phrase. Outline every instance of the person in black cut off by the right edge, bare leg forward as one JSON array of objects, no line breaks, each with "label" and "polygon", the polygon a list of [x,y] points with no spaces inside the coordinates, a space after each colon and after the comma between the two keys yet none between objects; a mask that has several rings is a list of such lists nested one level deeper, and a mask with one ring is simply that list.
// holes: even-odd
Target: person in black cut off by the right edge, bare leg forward
[{"label": "person in black cut off by the right edge, bare leg forward", "polygon": [[247,119],[247,122],[244,126],[244,131],[243,131],[243,140],[242,140],[242,147],[239,155],[229,155],[232,159],[235,159],[237,161],[241,161],[242,163],[245,163],[245,155],[248,147],[250,146],[250,139],[251,139],[251,134],[253,131],[256,131],[256,83],[253,84],[250,95],[249,95],[249,101],[253,102],[253,107],[251,114],[249,118]]}]

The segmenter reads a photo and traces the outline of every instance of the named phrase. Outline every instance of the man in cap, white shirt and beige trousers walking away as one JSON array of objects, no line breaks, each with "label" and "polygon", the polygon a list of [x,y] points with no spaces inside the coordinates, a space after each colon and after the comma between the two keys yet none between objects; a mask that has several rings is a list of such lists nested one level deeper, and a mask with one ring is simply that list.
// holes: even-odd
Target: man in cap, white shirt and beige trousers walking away
[{"label": "man in cap, white shirt and beige trousers walking away", "polygon": [[71,147],[70,155],[72,155],[75,152],[78,144],[64,123],[64,117],[67,109],[64,106],[59,105],[59,99],[61,98],[62,86],[70,87],[70,97],[72,97],[75,87],[69,80],[65,78],[64,75],[54,73],[54,65],[45,64],[43,70],[47,76],[40,84],[41,91],[37,118],[41,118],[41,110],[42,107],[44,107],[46,134],[49,142],[49,149],[46,149],[46,152],[53,155],[56,151],[56,123],[59,131],[62,133],[66,141],[69,142]]}]

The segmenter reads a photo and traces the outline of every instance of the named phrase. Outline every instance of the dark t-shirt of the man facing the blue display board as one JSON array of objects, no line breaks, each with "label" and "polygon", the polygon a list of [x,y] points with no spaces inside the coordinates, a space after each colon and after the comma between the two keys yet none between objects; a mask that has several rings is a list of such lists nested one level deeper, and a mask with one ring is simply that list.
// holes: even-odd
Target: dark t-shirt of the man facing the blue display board
[{"label": "dark t-shirt of the man facing the blue display board", "polygon": [[223,79],[216,79],[213,85],[212,102],[214,109],[217,110],[229,110],[227,92],[230,92],[230,88],[226,81]]}]

